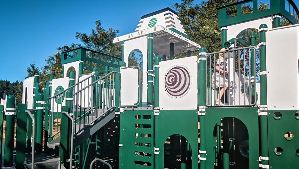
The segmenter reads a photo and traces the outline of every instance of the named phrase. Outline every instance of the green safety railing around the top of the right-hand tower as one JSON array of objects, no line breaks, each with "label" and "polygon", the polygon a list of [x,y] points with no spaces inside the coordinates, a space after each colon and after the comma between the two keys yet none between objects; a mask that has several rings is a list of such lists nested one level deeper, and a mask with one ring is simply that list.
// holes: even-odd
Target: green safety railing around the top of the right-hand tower
[{"label": "green safety railing around the top of the right-hand tower", "polygon": [[[298,24],[299,10],[292,0],[270,0],[268,9],[259,10],[260,0],[245,0],[218,7],[218,26],[226,27],[245,21],[256,20],[274,15],[282,15],[292,24]],[[250,13],[245,13],[244,6],[250,6]],[[233,13],[233,14],[232,14]]]}]

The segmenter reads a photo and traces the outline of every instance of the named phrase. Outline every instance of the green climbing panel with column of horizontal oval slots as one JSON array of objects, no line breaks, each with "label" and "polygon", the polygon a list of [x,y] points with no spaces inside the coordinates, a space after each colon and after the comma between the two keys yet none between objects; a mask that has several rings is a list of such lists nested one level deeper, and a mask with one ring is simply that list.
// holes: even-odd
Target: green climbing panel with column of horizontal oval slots
[{"label": "green climbing panel with column of horizontal oval slots", "polygon": [[[153,110],[130,110],[120,114],[120,144],[123,145],[119,148],[120,169],[154,168],[154,118]],[[151,137],[146,137],[146,134]],[[135,164],[135,161],[139,163]],[[150,166],[144,165],[146,163]]]}]

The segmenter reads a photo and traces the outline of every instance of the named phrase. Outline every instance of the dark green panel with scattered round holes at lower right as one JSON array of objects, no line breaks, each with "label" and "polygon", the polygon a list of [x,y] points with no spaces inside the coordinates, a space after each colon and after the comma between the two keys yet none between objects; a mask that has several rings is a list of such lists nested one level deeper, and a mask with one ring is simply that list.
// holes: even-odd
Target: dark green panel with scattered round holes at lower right
[{"label": "dark green panel with scattered round holes at lower right", "polygon": [[[275,112],[281,113],[281,118],[274,119]],[[299,148],[299,119],[295,118],[298,110],[268,111],[268,144],[269,165],[271,169],[298,168],[299,156],[296,150]],[[279,119],[279,120],[277,120]],[[285,138],[286,132],[292,132],[292,139]],[[283,153],[276,155],[274,149],[280,147]]]}]

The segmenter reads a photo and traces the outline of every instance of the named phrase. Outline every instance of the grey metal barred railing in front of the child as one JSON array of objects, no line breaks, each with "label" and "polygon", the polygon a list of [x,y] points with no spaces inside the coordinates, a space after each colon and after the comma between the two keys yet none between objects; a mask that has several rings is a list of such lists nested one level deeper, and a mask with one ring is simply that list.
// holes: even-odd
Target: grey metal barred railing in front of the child
[{"label": "grey metal barred railing in front of the child", "polygon": [[[256,46],[242,47],[206,55],[206,105],[217,106],[254,106],[256,97]],[[253,58],[251,56],[253,53]],[[222,56],[222,58],[221,58]],[[254,65],[251,65],[251,61]],[[215,69],[218,66],[218,70]],[[254,69],[254,74],[251,74]],[[242,85],[241,85],[242,84]],[[227,88],[227,93],[223,87]],[[217,93],[223,92],[223,105]],[[253,97],[254,96],[254,97]],[[218,97],[219,94],[218,94]],[[219,104],[216,103],[219,101]]]}]

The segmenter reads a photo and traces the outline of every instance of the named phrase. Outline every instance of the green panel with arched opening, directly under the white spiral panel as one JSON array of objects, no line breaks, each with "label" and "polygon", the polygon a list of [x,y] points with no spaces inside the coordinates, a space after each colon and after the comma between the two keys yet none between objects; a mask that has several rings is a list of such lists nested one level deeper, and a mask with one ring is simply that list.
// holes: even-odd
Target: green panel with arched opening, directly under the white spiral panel
[{"label": "green panel with arched opening, directly under the white spiral panel", "polygon": [[[198,136],[196,110],[160,110],[155,116],[155,168],[164,168],[164,144],[173,134],[184,136],[192,150],[192,169],[198,168]],[[122,123],[122,121],[120,122]]]}]

